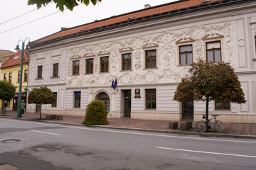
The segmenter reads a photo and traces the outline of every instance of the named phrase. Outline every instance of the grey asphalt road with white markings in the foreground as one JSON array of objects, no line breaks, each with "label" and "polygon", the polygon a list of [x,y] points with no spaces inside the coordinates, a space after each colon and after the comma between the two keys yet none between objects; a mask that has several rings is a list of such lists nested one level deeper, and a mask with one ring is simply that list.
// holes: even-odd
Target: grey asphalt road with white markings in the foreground
[{"label": "grey asphalt road with white markings in the foreground", "polygon": [[256,140],[0,118],[6,169],[256,169]]}]

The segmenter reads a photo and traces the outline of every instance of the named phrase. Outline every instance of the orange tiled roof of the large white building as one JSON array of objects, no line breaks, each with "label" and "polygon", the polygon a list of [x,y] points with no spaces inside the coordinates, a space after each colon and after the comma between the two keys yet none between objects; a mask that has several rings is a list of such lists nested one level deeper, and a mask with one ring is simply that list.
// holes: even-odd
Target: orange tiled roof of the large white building
[{"label": "orange tiled roof of the large white building", "polygon": [[95,21],[93,23],[87,23],[85,25],[82,26],[76,26],[73,28],[68,28],[67,30],[62,30],[58,33],[54,33],[53,35],[48,35],[45,38],[41,38],[39,40],[36,40],[33,42],[33,44],[38,44],[41,42],[46,42],[48,40],[53,40],[56,38],[62,38],[64,36],[67,35],[73,35],[75,33],[81,33],[81,30],[91,30],[93,28],[100,28],[102,26],[109,26],[110,24],[114,24],[114,23],[119,23],[119,22],[123,22],[123,21],[128,21],[130,17],[134,17],[132,19],[135,18],[142,18],[145,16],[151,16],[154,14],[158,14],[158,13],[164,13],[164,12],[169,12],[169,11],[175,11],[181,8],[189,8],[192,6],[199,6],[201,4],[208,4],[208,3],[213,3],[216,1],[222,1],[222,0],[210,0],[210,1],[206,1],[205,3],[203,1],[206,0],[181,0],[181,1],[175,1],[169,4],[164,4],[164,5],[159,5],[159,6],[153,6],[151,8],[145,8],[139,11],[134,11],[131,13],[124,13],[122,15],[119,16],[114,16],[111,18],[106,18],[100,21]]}]

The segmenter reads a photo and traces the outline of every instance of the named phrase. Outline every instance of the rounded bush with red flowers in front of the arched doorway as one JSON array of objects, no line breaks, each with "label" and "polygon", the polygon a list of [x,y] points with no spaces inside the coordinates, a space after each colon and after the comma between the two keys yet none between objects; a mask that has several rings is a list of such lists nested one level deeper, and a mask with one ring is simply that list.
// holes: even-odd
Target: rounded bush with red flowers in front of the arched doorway
[{"label": "rounded bush with red flowers in front of the arched doorway", "polygon": [[82,124],[85,125],[106,125],[107,112],[104,103],[100,100],[92,101],[87,105],[85,120]]}]

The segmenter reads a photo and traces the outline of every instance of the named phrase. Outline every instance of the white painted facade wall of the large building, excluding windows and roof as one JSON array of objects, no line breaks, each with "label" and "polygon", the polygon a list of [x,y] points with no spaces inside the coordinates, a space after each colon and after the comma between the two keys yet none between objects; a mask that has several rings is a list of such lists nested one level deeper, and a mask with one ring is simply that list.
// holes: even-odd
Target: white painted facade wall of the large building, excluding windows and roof
[{"label": "white painted facade wall of the large building, excluding windows and roof", "polygon": [[[131,90],[131,118],[181,120],[182,105],[173,100],[176,86],[189,66],[179,65],[178,47],[193,46],[193,62],[206,60],[206,42],[220,41],[222,61],[235,69],[247,103],[230,104],[230,110],[215,110],[229,123],[256,123],[256,4],[247,1],[204,11],[113,28],[76,38],[49,42],[29,51],[28,89],[48,86],[57,92],[57,107],[42,107],[43,113],[85,115],[90,101],[105,92],[110,98],[109,118],[124,117],[124,90]],[[145,50],[156,49],[156,68],[146,69]],[[122,71],[122,54],[132,53],[132,70]],[[100,57],[109,57],[109,72],[100,72]],[[93,74],[85,74],[85,60],[94,59]],[[80,74],[73,75],[73,61],[80,61]],[[52,77],[53,64],[59,63],[59,77]],[[43,79],[37,79],[43,65]],[[111,87],[117,78],[118,91]],[[135,98],[140,89],[140,98]],[[156,108],[146,109],[145,90],[156,89]],[[80,107],[74,107],[74,92],[80,91]],[[36,111],[29,104],[27,111]],[[193,120],[201,120],[206,103],[194,102]]]}]

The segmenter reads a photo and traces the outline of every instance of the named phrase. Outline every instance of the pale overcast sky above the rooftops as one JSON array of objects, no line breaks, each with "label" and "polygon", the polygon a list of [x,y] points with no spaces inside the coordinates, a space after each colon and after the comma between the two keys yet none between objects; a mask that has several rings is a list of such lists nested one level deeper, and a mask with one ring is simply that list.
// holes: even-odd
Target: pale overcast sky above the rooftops
[{"label": "pale overcast sky above the rooftops", "polygon": [[[96,19],[100,20],[137,11],[144,8],[145,4],[157,6],[171,1],[176,0],[102,0],[101,3],[95,6],[81,4],[76,6],[73,11],[65,10],[62,13],[59,12],[58,8],[55,8],[55,4],[49,4],[37,10],[35,5],[28,6],[27,0],[1,0],[0,50],[15,52],[14,48],[18,40],[24,40],[26,37],[33,41],[56,33],[61,27],[79,26]],[[21,48],[21,42],[19,45]]]}]

